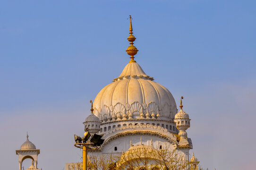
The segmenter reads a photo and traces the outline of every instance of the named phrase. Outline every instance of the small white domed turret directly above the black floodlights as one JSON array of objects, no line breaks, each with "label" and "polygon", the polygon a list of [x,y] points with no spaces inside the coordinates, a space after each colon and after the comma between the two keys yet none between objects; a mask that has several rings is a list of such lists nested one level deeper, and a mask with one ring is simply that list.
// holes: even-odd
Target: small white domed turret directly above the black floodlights
[{"label": "small white domed turret directly above the black floodlights", "polygon": [[91,115],[89,115],[84,122],[85,132],[90,132],[91,134],[95,134],[100,131],[101,121],[100,119],[94,115],[93,102],[91,108]]}]

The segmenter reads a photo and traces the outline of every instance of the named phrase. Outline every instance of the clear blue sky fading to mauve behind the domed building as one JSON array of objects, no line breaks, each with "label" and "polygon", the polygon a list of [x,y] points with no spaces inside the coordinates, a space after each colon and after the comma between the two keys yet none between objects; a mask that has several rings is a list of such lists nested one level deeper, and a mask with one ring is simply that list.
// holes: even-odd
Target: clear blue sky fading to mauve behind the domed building
[{"label": "clear blue sky fading to mauve behind the domed building", "polygon": [[41,149],[43,170],[80,159],[73,134],[83,133],[89,101],[128,63],[129,15],[137,62],[177,102],[184,96],[201,165],[253,169],[255,6],[253,0],[2,0],[0,169],[18,168],[15,150],[26,131]]}]

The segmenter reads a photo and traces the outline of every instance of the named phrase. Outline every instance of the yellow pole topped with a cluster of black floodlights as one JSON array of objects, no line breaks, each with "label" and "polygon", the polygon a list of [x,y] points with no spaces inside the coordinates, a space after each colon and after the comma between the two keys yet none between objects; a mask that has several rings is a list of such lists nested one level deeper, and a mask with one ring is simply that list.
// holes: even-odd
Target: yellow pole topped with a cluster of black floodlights
[{"label": "yellow pole topped with a cluster of black floodlights", "polygon": [[90,140],[90,143],[86,143],[91,134],[85,132],[84,137],[75,136],[76,144],[74,146],[83,149],[83,170],[87,170],[87,149],[97,149],[103,144],[104,139],[101,139],[101,135],[94,134]]}]

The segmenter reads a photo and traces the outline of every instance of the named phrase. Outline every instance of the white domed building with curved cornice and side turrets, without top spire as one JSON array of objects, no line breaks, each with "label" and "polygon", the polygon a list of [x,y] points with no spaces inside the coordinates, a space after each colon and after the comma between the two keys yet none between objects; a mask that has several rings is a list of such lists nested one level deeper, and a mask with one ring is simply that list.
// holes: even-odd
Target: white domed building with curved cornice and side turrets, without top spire
[{"label": "white domed building with curved cornice and side turrets, without top spire", "polygon": [[133,145],[150,145],[152,140],[155,148],[171,145],[170,149],[189,160],[192,142],[186,132],[190,127],[188,114],[182,109],[177,114],[170,91],[153,80],[137,62],[129,62],[121,75],[98,93],[94,114],[84,125],[85,131],[100,134],[105,141],[88,154],[122,153],[128,151],[131,141]]}]

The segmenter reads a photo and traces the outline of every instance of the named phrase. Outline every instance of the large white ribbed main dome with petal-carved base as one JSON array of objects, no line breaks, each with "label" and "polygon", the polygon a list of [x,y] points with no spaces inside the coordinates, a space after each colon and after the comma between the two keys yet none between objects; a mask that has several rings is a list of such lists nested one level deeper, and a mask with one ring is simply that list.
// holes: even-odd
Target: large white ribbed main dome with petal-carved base
[{"label": "large white ribbed main dome with petal-carved base", "polygon": [[173,119],[177,113],[173,96],[153,80],[136,62],[128,63],[121,75],[98,93],[94,114],[112,119],[132,114],[137,119],[142,113],[148,113],[147,117],[158,114],[157,117]]}]

